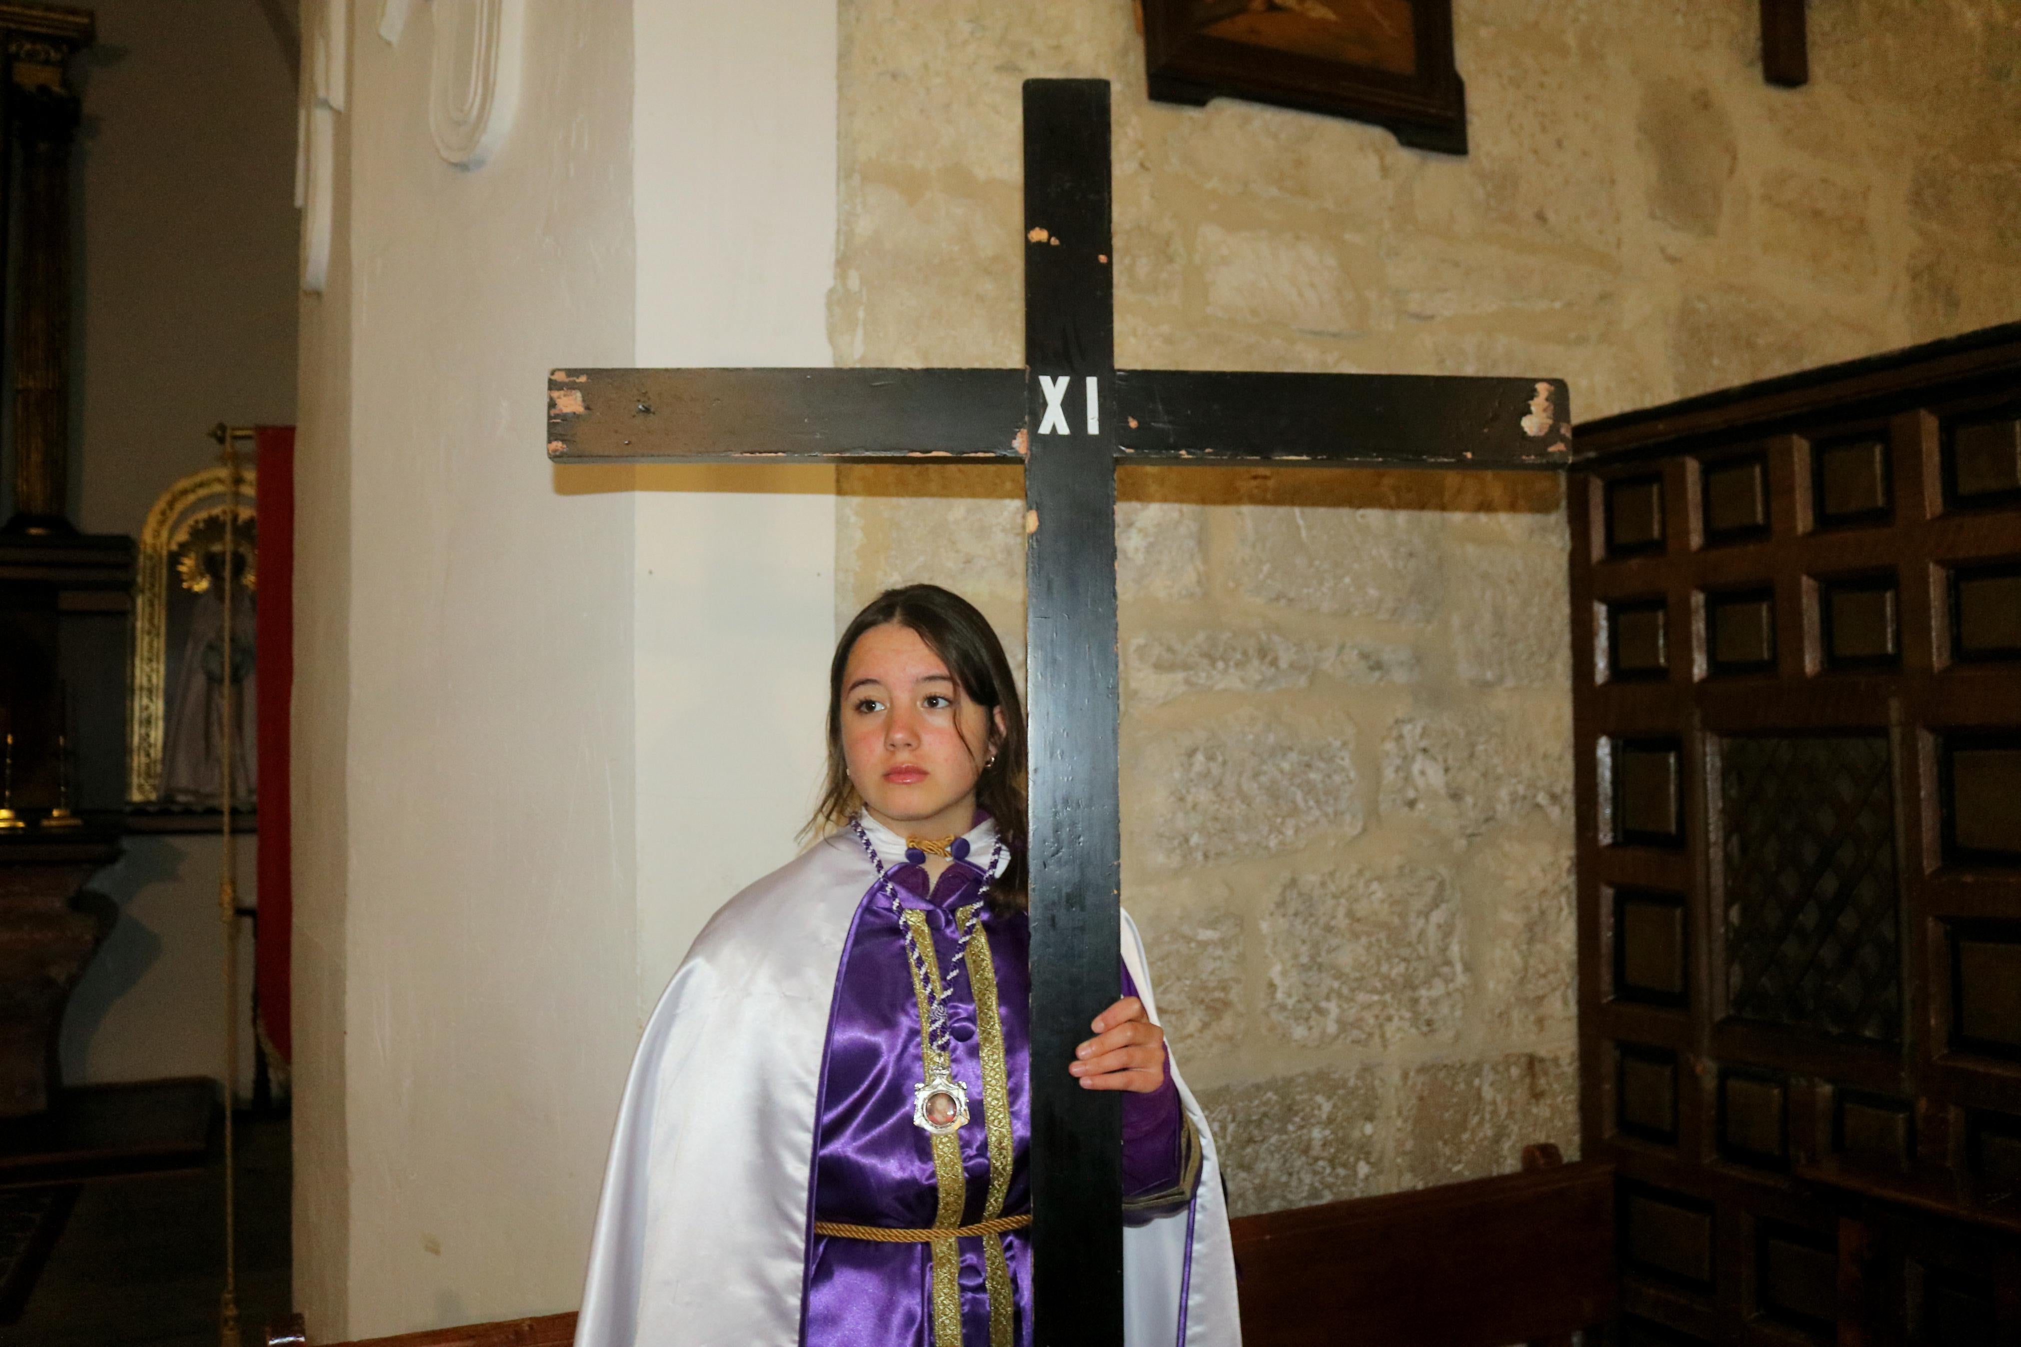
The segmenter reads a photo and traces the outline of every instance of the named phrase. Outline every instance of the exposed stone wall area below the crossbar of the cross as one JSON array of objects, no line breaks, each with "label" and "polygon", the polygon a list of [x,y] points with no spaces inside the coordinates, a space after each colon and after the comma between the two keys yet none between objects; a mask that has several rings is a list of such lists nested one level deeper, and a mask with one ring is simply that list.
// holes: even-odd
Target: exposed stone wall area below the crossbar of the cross
[{"label": "exposed stone wall area below the crossbar of the cross", "polygon": [[[841,487],[839,622],[932,580],[1021,656],[1015,473]],[[1120,495],[1124,903],[1237,1210],[1576,1147],[1558,483],[1132,469]]]}]

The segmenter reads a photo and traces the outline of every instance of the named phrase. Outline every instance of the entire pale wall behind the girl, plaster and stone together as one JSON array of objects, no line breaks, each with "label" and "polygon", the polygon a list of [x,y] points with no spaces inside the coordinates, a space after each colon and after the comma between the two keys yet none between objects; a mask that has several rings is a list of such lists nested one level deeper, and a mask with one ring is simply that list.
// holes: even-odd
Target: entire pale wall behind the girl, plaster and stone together
[{"label": "entire pale wall behind the girl, plaster and stone together", "polygon": [[[392,46],[352,10],[301,327],[321,1341],[576,1305],[629,1054],[705,915],[790,854],[839,620],[938,580],[1023,654],[1013,473],[564,479],[530,454],[550,366],[1019,366],[1027,75],[1116,83],[1122,366],[1560,374],[1597,416],[2021,295],[1991,0],[1821,10],[1799,93],[1746,6],[1459,6],[1463,160],[1148,105],[1122,0],[794,4],[527,6],[475,172],[428,143],[428,14]],[[1574,1151],[1556,483],[1120,495],[1126,903],[1237,1210]]]}]

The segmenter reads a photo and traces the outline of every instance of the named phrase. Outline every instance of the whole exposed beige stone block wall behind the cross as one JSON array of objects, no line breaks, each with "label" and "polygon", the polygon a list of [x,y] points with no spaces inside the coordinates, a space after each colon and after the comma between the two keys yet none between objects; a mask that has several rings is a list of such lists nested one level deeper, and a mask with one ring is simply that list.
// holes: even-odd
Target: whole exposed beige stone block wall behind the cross
[{"label": "whole exposed beige stone block wall behind the cross", "polygon": [[[837,364],[1021,364],[1019,81],[1114,81],[1118,364],[1562,376],[1591,418],[2021,315],[2005,0],[1455,6],[1471,153],[1148,103],[1124,0],[841,6]],[[1023,656],[1015,471],[845,469],[837,618]],[[1237,1212],[1576,1149],[1558,485],[1126,469],[1124,899]]]}]

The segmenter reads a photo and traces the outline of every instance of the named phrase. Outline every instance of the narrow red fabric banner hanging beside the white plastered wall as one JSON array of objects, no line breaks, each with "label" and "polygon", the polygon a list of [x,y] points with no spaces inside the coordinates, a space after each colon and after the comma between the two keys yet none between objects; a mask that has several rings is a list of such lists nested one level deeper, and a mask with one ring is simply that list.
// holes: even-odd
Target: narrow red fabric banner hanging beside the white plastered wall
[{"label": "narrow red fabric banner hanging beside the white plastered wall", "polygon": [[295,897],[289,883],[287,735],[295,691],[295,428],[259,426],[255,511],[259,517],[259,941],[253,986],[259,1024],[283,1062],[293,1060],[289,947]]}]

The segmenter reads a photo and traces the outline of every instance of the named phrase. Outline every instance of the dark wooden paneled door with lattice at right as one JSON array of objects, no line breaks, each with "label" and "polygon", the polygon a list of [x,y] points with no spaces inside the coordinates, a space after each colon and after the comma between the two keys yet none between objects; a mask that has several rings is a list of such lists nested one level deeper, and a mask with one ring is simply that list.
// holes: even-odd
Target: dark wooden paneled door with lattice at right
[{"label": "dark wooden paneled door with lattice at right", "polygon": [[2021,1343],[2021,327],[1578,444],[1617,1337]]}]

